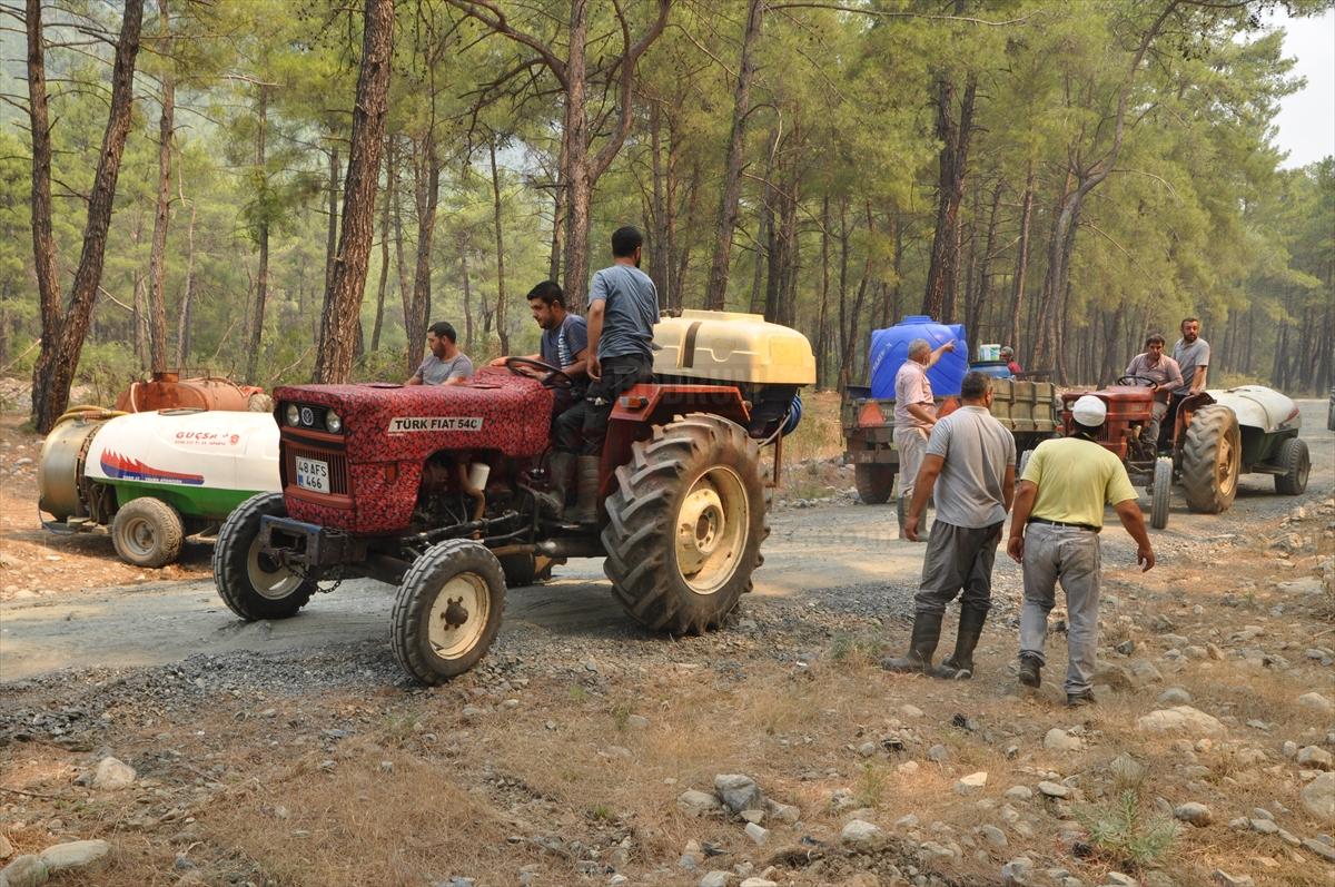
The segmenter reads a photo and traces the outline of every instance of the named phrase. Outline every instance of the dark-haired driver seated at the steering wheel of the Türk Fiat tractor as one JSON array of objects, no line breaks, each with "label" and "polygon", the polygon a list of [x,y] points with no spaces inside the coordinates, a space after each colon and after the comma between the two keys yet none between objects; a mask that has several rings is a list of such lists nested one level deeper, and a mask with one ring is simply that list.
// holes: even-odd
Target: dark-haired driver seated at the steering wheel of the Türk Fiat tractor
[{"label": "dark-haired driver seated at the steering wheel of the T\u00fcrk Fiat tractor", "polygon": [[[561,367],[570,377],[569,389],[555,389],[551,415],[553,453],[547,465],[551,474],[551,493],[545,508],[559,518],[566,506],[570,474],[583,444],[585,389],[589,374],[589,327],[582,317],[566,310],[566,295],[555,281],[543,281],[529,290],[529,310],[542,329],[538,354],[530,359]],[[505,366],[507,358],[498,357],[491,366]]]}]

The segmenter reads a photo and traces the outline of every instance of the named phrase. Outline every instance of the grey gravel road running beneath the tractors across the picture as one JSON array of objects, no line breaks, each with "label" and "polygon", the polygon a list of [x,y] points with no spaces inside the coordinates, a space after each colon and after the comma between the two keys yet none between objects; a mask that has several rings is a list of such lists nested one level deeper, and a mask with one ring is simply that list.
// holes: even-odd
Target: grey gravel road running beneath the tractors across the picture
[{"label": "grey gravel road running beneath the tractors across the picture", "polygon": [[[1168,528],[1152,536],[1159,569],[1197,562],[1207,552],[1244,538],[1259,520],[1303,502],[1330,501],[1335,434],[1326,430],[1326,401],[1300,401],[1312,458],[1306,496],[1275,496],[1272,480],[1259,474],[1244,476],[1234,508],[1224,514],[1191,514],[1177,496]],[[1109,521],[1116,524],[1111,512]],[[765,635],[793,628],[801,644],[812,625],[826,631],[873,625],[910,612],[922,549],[896,540],[892,508],[818,504],[781,510],[770,522],[765,565],[740,614],[744,623],[758,623]],[[1113,576],[1131,577],[1133,546],[1125,533],[1113,526],[1104,545],[1104,562]],[[1019,569],[1005,557],[997,561],[996,589],[1005,614],[1019,596]],[[387,647],[392,593],[379,582],[351,581],[331,596],[316,597],[296,618],[255,624],[236,620],[210,581],[12,601],[0,605],[0,685],[56,679],[51,673],[60,669],[164,665],[199,655],[275,665],[324,661],[331,671],[356,661],[375,680],[392,679],[396,668]],[[578,661],[599,648],[625,645],[670,657],[677,644],[717,645],[717,640],[674,644],[646,635],[613,601],[601,561],[577,560],[558,568],[558,578],[545,586],[510,592],[493,657],[555,653]],[[284,671],[275,669],[275,680]]]}]

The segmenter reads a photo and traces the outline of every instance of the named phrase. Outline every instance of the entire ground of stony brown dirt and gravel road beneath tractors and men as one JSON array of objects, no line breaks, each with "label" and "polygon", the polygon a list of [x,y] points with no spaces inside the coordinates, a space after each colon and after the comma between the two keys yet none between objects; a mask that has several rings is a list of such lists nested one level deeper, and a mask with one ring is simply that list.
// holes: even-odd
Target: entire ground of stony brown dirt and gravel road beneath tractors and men
[{"label": "entire ground of stony brown dirt and gravel road beneath tractors and men", "polygon": [[[1063,705],[1060,610],[1044,687],[1017,687],[1004,557],[975,680],[877,667],[906,640],[922,549],[893,509],[849,501],[828,417],[793,441],[757,590],[724,631],[643,633],[601,564],[573,561],[514,589],[483,667],[430,691],[387,649],[392,589],[244,625],[206,544],[168,573],[45,534],[35,438],[11,419],[0,834],[17,854],[107,839],[100,868],[51,882],[105,887],[1331,883],[1335,823],[1304,791],[1335,751],[1306,696],[1335,700],[1335,435],[1323,402],[1303,410],[1306,496],[1258,476],[1222,516],[1179,500],[1147,574],[1104,533],[1100,701],[1081,709]],[[1202,716],[1143,720],[1181,705]],[[87,784],[107,756],[129,787]],[[776,802],[764,834],[684,797],[728,773]],[[849,843],[850,820],[878,830]]]}]

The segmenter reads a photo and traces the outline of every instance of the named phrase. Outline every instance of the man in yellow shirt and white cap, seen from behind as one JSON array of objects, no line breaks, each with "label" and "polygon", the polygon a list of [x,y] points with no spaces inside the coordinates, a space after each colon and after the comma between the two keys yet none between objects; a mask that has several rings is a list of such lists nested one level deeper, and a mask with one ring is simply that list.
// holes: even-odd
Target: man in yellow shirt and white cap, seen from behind
[{"label": "man in yellow shirt and white cap, seen from behind", "polygon": [[1020,610],[1020,683],[1039,687],[1048,613],[1060,581],[1067,593],[1067,704],[1093,703],[1099,645],[1099,532],[1104,505],[1112,505],[1136,540],[1141,572],[1155,565],[1145,521],[1121,461],[1099,444],[1108,417],[1104,402],[1085,394],[1071,407],[1073,434],[1033,450],[1020,488],[1007,553],[1024,565]]}]

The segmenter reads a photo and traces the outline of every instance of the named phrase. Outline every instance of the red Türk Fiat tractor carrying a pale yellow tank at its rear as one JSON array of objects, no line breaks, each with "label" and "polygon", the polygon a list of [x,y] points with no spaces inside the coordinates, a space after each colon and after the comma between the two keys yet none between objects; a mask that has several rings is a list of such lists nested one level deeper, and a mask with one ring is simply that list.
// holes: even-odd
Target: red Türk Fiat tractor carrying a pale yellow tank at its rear
[{"label": "red T\u00fcrk Fiat tractor carrying a pale yellow tank at its rear", "polygon": [[553,520],[535,498],[550,490],[553,390],[570,383],[557,367],[511,358],[458,386],[278,389],[283,492],[227,520],[219,594],[260,620],[295,616],[320,581],[396,585],[391,645],[426,684],[482,659],[507,585],[567,557],[605,557],[613,594],[650,629],[718,628],[761,564],[765,486],[814,359],[800,333],[754,315],[685,311],[654,338],[654,382],[611,413],[597,526]]}]

